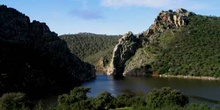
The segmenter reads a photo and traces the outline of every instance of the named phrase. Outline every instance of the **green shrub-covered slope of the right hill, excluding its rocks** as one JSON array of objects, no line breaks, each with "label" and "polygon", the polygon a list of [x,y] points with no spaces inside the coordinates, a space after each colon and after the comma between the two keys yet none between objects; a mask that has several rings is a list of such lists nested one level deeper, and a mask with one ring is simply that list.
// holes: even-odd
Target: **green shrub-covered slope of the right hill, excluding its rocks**
[{"label": "green shrub-covered slope of the right hill, excluding its rocks", "polygon": [[153,69],[160,74],[220,77],[220,18],[187,19],[187,26],[166,30],[159,45],[152,45],[157,53]]}]

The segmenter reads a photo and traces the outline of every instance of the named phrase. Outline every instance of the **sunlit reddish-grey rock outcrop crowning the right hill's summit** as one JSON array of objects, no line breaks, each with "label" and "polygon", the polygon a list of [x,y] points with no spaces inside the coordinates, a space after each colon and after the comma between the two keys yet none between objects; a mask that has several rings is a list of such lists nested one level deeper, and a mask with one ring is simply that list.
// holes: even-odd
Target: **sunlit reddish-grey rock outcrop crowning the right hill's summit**
[{"label": "sunlit reddish-grey rock outcrop crowning the right hill's summit", "polygon": [[188,24],[186,17],[195,15],[185,9],[177,9],[176,11],[161,11],[156,17],[154,23],[144,32],[144,36],[148,38],[150,43],[155,43],[160,33],[167,29],[182,27]]}]

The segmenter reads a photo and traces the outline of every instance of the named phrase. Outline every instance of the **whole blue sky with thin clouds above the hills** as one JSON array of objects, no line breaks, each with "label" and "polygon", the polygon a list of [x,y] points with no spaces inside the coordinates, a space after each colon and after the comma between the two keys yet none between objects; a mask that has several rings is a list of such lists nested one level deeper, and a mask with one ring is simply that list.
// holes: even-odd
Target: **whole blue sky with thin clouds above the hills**
[{"label": "whole blue sky with thin clouds above the hills", "polygon": [[0,4],[45,22],[59,35],[137,34],[148,29],[160,11],[169,9],[220,16],[220,0],[0,0]]}]

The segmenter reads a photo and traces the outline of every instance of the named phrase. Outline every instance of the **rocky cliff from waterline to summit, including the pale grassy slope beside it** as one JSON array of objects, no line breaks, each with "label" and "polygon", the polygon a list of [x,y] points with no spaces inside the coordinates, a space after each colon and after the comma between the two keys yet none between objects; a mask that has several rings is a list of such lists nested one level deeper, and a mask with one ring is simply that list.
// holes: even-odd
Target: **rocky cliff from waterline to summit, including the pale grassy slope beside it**
[{"label": "rocky cliff from waterline to summit, including the pale grassy slope beside it", "polygon": [[161,11],[154,23],[139,35],[132,32],[126,33],[113,50],[111,64],[108,68],[108,75],[113,76],[142,76],[152,74],[151,63],[156,54],[149,49],[158,45],[161,34],[166,30],[178,29],[188,24],[187,17],[194,16],[192,12],[185,9],[176,11]]}]

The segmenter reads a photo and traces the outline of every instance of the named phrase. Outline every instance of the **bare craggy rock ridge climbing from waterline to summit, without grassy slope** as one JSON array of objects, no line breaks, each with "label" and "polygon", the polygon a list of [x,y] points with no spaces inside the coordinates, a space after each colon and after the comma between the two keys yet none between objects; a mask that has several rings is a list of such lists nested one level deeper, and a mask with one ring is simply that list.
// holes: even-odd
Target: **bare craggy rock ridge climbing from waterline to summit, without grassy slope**
[{"label": "bare craggy rock ridge climbing from waterline to summit, without grassy slope", "polygon": [[[140,35],[128,32],[119,39],[119,43],[113,50],[112,62],[109,66],[109,75],[120,76],[124,72],[125,63],[136,53],[139,47],[158,42],[160,34],[167,29],[179,28],[188,24],[187,17],[195,15],[186,9],[176,11],[161,11],[154,23]],[[145,67],[146,65],[143,65]],[[124,75],[126,73],[123,73]]]}]

